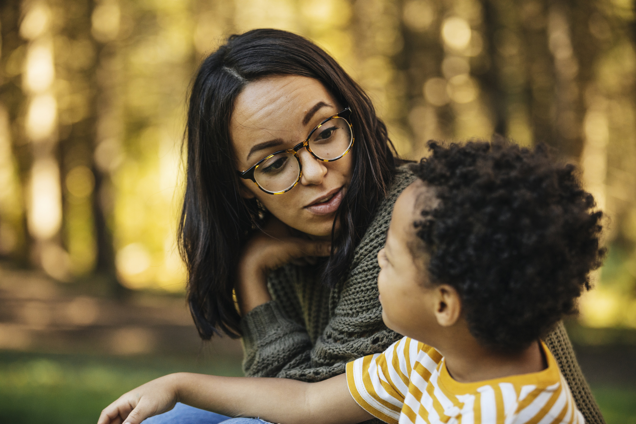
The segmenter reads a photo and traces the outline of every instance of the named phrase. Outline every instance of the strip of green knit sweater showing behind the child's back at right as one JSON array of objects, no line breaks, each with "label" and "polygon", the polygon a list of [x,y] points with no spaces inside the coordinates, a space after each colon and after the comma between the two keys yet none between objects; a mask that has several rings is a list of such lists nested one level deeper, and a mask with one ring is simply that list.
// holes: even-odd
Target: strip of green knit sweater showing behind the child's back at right
[{"label": "strip of green knit sweater showing behind the child's back at right", "polygon": [[579,362],[576,360],[572,343],[570,343],[563,322],[556,325],[555,329],[546,337],[545,342],[555,357],[561,374],[567,380],[576,406],[583,414],[586,424],[605,424],[596,400],[590,391],[590,386],[585,381]]}]

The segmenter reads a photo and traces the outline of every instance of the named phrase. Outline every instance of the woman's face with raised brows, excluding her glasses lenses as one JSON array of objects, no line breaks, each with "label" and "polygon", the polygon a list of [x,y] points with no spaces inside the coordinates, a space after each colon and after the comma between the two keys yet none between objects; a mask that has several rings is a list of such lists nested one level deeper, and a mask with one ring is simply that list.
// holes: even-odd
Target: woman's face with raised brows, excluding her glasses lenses
[{"label": "woman's face with raised brows, excluding her glasses lenses", "polygon": [[[236,169],[245,171],[269,154],[291,149],[305,140],[321,121],[342,109],[317,79],[290,75],[249,83],[237,97],[230,121]],[[353,155],[323,162],[303,148],[298,156],[303,172],[293,189],[270,195],[254,182],[240,179],[241,195],[258,198],[267,210],[292,228],[328,238],[336,210],[351,181]]]}]

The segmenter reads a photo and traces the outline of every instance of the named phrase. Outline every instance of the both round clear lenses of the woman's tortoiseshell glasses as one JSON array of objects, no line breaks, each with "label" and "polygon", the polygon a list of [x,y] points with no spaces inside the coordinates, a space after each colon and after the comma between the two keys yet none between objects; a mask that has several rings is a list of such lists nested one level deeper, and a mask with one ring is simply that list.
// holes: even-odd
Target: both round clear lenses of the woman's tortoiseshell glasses
[{"label": "both round clear lenses of the woman's tortoiseshell glasses", "polygon": [[[317,128],[308,140],[309,149],[319,158],[333,160],[349,149],[353,135],[349,123],[336,117]],[[300,175],[300,165],[293,154],[282,152],[267,158],[254,170],[258,185],[270,193],[293,186]]]}]

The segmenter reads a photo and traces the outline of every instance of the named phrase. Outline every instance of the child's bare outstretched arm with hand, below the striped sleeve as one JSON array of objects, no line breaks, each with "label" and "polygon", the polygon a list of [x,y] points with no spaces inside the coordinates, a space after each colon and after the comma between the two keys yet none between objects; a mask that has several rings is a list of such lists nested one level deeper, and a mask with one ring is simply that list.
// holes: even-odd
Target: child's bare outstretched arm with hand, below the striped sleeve
[{"label": "child's bare outstretched arm with hand, below the striped sleeve", "polygon": [[228,416],[273,423],[347,424],[370,420],[351,397],[345,374],[319,383],[284,378],[218,377],[177,373],[131,390],[106,407],[97,424],[140,424],[176,402]]}]

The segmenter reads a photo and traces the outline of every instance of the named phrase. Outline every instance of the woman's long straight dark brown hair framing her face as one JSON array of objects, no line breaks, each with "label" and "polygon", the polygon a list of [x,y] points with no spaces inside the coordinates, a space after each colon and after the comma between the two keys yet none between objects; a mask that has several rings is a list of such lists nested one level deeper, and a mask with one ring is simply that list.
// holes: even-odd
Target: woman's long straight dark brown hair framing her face
[{"label": "woman's long straight dark brown hair framing her face", "polygon": [[394,174],[394,149],[384,123],[364,90],[325,51],[275,29],[230,36],[198,69],[184,140],[188,158],[179,248],[188,268],[190,311],[203,339],[215,333],[240,334],[232,297],[235,272],[244,243],[264,217],[256,200],[239,195],[228,127],[234,101],[245,85],[272,75],[315,78],[353,111],[353,172],[337,212],[340,231],[332,229],[331,256],[324,268],[329,286],[347,273]]}]

